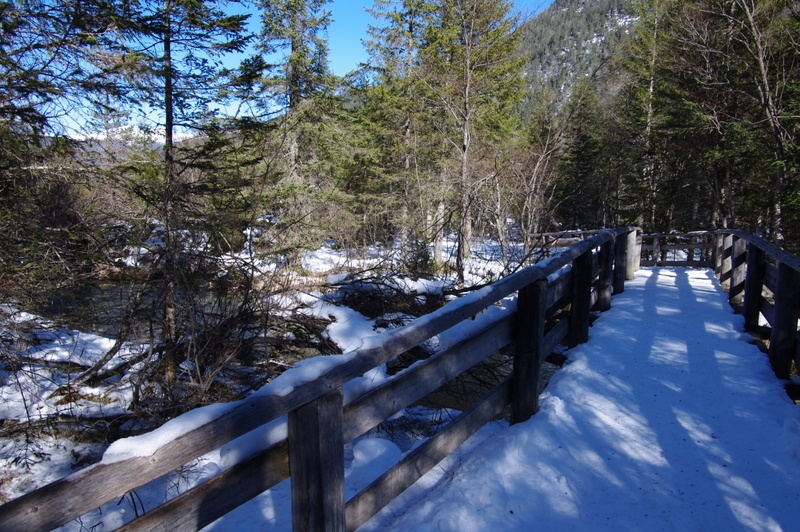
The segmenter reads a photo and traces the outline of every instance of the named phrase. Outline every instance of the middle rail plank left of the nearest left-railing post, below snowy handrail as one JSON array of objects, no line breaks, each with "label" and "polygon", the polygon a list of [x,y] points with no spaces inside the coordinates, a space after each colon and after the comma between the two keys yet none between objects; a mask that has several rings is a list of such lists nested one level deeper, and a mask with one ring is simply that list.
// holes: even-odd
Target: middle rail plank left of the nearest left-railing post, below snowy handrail
[{"label": "middle rail plank left of the nearest left-railing post, below snowy handrail", "polygon": [[284,440],[116,530],[200,530],[288,478],[288,449]]}]

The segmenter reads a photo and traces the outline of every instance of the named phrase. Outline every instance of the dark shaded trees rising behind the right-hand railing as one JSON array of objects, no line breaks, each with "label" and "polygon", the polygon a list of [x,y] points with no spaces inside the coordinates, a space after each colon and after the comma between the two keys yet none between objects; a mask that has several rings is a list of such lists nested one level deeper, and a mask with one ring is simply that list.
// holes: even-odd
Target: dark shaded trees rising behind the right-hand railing
[{"label": "dark shaded trees rising behind the right-hand railing", "polygon": [[736,227],[798,251],[797,5],[652,0],[631,10],[627,38],[565,106],[572,222]]}]

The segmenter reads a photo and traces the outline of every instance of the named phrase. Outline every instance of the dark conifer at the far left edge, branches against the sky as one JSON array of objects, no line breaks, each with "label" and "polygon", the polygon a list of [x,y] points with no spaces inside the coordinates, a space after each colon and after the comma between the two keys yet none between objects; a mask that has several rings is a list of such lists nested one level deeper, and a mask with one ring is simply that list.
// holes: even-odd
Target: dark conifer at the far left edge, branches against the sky
[{"label": "dark conifer at the far left edge, branches against the sky", "polygon": [[[0,2],[0,279],[15,297],[87,273],[102,238],[75,159],[92,109],[119,96],[107,2]],[[81,113],[81,110],[85,110]],[[83,114],[83,116],[81,116]]]}]

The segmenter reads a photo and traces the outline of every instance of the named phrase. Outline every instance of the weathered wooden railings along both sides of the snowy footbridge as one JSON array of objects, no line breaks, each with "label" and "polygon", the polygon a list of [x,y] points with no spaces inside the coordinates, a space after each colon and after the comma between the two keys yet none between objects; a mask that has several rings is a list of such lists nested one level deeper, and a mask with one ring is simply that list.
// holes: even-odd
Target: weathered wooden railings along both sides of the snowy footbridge
[{"label": "weathered wooden railings along both sides of the snowy footbridge", "polygon": [[[254,395],[164,444],[149,456],[99,463],[0,506],[0,530],[50,530],[94,510],[231,440],[288,417],[288,436],[122,527],[196,530],[291,476],[294,530],[355,530],[487,422],[512,423],[538,409],[544,358],[586,342],[593,311],[612,305],[639,264],[713,267],[746,326],[768,339],[769,359],[787,378],[798,355],[800,259],[739,231],[642,236],[622,227],[585,235],[543,263],[505,277],[408,326],[378,337],[347,360],[285,395]],[[342,386],[516,293],[517,309],[471,337],[345,403]],[[760,320],[760,316],[764,320]],[[477,320],[476,320],[477,321]],[[763,325],[762,322],[766,322]],[[511,375],[435,437],[345,501],[346,442],[505,347]]]}]

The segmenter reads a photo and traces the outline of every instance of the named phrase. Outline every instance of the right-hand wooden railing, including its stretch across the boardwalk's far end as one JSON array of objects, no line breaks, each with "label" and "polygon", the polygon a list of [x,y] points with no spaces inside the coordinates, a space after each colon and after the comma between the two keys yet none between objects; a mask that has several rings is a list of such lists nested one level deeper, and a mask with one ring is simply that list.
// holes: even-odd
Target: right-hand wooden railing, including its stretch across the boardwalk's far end
[{"label": "right-hand wooden railing, including its stretch across the boardwalk's far end", "polygon": [[642,266],[713,267],[745,328],[768,340],[775,374],[787,379],[793,362],[800,367],[800,257],[734,229],[639,240]]}]

